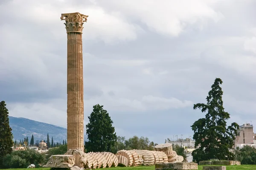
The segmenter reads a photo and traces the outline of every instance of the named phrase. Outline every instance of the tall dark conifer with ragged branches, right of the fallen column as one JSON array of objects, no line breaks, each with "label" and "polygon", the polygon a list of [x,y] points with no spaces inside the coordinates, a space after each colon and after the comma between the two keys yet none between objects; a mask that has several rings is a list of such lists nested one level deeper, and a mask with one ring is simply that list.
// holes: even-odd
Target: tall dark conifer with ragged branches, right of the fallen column
[{"label": "tall dark conifer with ragged branches, right of the fallen column", "polygon": [[191,126],[195,147],[198,147],[192,152],[192,156],[197,163],[209,159],[232,160],[234,156],[229,149],[234,145],[239,125],[233,122],[227,127],[226,120],[230,118],[230,114],[223,108],[221,84],[222,80],[216,78],[206,98],[207,104],[194,105],[194,110],[207,112],[205,118],[198,119]]}]

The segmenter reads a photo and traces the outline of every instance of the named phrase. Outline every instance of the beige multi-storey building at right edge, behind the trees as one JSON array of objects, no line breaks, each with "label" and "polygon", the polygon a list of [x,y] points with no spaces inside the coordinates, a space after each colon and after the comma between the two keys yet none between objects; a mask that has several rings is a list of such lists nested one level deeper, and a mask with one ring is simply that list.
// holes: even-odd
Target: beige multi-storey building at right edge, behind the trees
[{"label": "beige multi-storey building at right edge, behind the trees", "polygon": [[253,125],[250,123],[239,126],[236,136],[235,147],[243,147],[244,145],[256,146],[256,133],[253,133]]}]

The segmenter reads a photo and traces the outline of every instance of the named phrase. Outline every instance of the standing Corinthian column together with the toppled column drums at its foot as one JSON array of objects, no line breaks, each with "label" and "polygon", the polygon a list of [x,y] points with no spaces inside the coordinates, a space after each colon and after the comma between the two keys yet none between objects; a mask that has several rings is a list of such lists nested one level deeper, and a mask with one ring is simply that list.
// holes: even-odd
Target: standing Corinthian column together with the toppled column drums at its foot
[{"label": "standing Corinthian column together with the toppled column drums at its foot", "polygon": [[61,14],[67,30],[67,153],[52,155],[43,167],[87,169],[154,165],[183,161],[172,150],[172,144],[159,144],[155,151],[119,150],[110,152],[84,153],[84,99],[83,99],[83,56],[82,30],[87,15],[76,13]]}]

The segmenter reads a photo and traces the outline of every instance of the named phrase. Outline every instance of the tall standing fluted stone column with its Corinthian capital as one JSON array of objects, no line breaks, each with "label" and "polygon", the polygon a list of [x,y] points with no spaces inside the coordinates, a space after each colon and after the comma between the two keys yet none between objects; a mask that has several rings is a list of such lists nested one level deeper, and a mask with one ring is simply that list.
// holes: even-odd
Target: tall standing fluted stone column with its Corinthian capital
[{"label": "tall standing fluted stone column with its Corinthian capital", "polygon": [[84,151],[83,24],[87,15],[61,14],[67,30],[67,150]]}]

